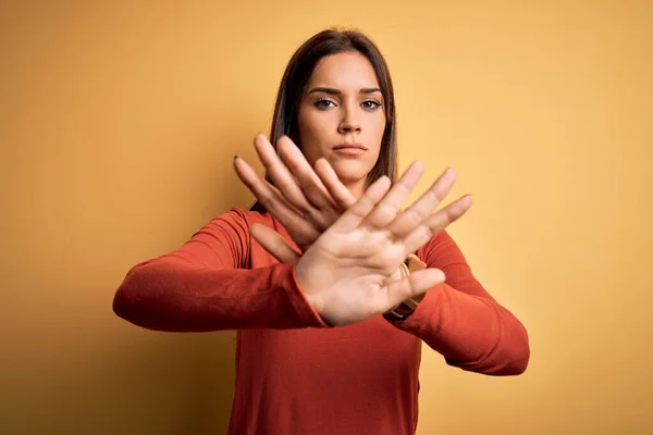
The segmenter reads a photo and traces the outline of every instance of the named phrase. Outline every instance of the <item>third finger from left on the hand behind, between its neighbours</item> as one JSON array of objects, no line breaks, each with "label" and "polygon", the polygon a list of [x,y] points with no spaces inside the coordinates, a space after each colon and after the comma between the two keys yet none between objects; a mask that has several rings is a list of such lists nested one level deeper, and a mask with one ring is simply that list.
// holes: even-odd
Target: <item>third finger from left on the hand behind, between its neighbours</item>
[{"label": "third finger from left on the hand behind, between its neighbours", "polygon": [[276,147],[310,203],[322,211],[333,212],[334,202],[329,191],[293,140],[284,136],[279,139]]}]

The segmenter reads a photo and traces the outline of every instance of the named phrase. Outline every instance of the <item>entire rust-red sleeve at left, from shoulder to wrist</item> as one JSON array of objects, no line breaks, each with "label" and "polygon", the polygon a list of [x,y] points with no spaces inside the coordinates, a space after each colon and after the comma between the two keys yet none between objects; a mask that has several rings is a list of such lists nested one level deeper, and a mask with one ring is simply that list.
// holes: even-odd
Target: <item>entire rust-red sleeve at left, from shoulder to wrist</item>
[{"label": "entire rust-red sleeve at left, from shoulder to wrist", "polygon": [[181,248],[136,264],[115,293],[114,312],[169,332],[329,326],[299,289],[296,263],[249,269],[248,226],[233,209]]}]

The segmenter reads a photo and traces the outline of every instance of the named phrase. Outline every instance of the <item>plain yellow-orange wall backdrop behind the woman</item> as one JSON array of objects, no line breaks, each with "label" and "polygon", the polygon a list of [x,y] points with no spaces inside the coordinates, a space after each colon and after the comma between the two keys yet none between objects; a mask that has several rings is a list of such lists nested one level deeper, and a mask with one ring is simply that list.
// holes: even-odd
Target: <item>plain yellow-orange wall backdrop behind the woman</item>
[{"label": "plain yellow-orange wall backdrop behind the woman", "polygon": [[419,434],[653,433],[652,4],[3,2],[0,432],[225,432],[234,333],[140,330],[112,297],[251,202],[233,156],[341,25],[390,63],[402,167],[473,195],[451,232],[531,339],[510,378],[424,347]]}]

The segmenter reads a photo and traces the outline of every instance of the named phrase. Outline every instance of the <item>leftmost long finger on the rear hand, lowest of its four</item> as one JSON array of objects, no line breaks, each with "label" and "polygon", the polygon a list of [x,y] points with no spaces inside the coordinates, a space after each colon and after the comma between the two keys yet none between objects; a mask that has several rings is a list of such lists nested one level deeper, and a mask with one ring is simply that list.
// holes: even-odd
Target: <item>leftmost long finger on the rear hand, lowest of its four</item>
[{"label": "leftmost long finger on the rear hand, lowest of its four", "polygon": [[241,181],[254,194],[256,199],[268,210],[288,232],[293,232],[293,238],[301,235],[306,239],[315,240],[319,233],[303,216],[298,215],[283,197],[275,194],[272,186],[261,179],[256,171],[241,157],[234,158],[234,167]]}]

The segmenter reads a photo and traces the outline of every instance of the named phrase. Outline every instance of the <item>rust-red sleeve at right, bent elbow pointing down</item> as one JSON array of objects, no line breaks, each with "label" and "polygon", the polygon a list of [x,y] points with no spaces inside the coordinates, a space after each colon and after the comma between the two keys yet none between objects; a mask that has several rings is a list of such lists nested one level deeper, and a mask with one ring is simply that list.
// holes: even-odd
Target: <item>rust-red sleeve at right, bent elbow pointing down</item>
[{"label": "rust-red sleeve at right, bent elbow pointing down", "polygon": [[530,358],[521,322],[475,278],[460,249],[441,232],[419,256],[446,281],[429,291],[410,316],[392,323],[442,353],[447,364],[489,375],[522,373]]}]

